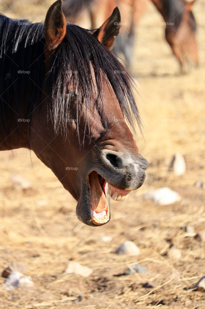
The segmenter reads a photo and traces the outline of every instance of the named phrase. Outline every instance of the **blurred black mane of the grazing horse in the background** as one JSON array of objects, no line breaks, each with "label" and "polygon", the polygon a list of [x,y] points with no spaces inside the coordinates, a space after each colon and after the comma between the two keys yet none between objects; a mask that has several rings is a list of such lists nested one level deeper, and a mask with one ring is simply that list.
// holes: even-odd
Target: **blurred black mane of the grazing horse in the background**
[{"label": "blurred black mane of the grazing horse in the background", "polygon": [[[174,23],[170,28],[177,31],[182,21],[186,2],[184,0],[163,0],[163,9],[168,23]],[[196,31],[196,21],[192,11],[189,12],[189,24],[192,31]]]}]

